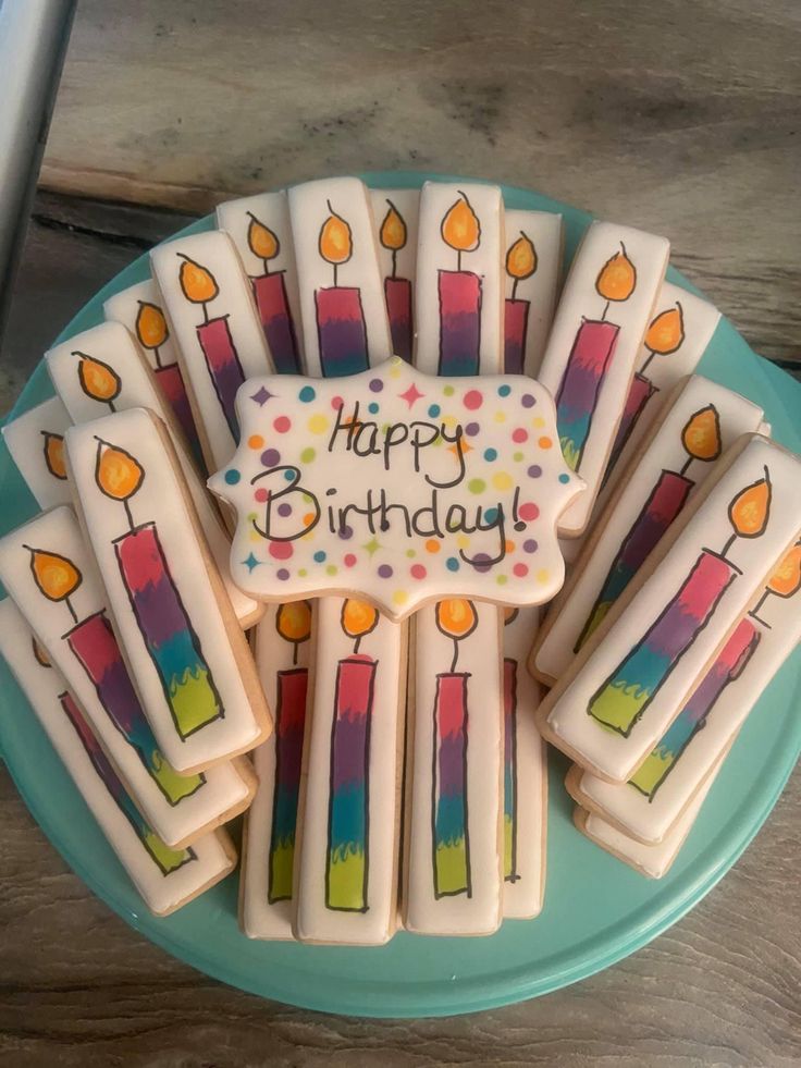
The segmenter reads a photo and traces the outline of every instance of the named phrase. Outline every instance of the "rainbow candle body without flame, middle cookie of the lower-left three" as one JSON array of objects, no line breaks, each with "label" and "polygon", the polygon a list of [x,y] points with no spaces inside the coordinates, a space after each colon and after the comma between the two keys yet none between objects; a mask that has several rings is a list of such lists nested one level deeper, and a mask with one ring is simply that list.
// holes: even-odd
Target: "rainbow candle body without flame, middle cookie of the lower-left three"
[{"label": "rainbow candle body without flame, middle cookie of the lower-left three", "polygon": [[194,794],[206,778],[202,774],[178,775],[162,757],[104,612],[97,612],[78,623],[65,637],[73,654],[91,679],[101,705],[125,740],[134,747],[164,797],[171,805],[177,805],[184,797]]}]

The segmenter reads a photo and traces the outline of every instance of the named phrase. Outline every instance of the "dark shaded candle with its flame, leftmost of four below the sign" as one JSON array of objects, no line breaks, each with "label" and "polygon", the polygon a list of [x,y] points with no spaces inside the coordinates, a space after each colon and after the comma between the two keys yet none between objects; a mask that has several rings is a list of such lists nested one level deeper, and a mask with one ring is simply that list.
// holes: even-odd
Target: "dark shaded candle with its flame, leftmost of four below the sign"
[{"label": "dark shaded candle with its flame, leftmost of four below the sign", "polygon": [[293,666],[275,673],[275,772],[270,831],[268,900],[292,899],[297,799],[306,724],[308,667],[297,665],[298,648],[311,635],[311,604],[281,604],[275,630],[293,646]]}]

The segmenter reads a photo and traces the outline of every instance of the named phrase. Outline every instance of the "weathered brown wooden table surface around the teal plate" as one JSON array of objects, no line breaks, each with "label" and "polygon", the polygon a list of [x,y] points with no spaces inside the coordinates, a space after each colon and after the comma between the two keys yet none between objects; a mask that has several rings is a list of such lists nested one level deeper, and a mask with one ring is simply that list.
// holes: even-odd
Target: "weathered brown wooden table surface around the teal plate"
[{"label": "weathered brown wooden table surface around the teal plate", "polygon": [[[384,168],[503,179],[665,233],[752,346],[792,366],[800,46],[797,0],[83,0],[0,410],[86,298],[188,216]],[[726,879],[632,957],[534,1002],[394,1022],[192,971],[85,889],[4,769],[0,805],[2,1068],[801,1063],[798,773]]]}]

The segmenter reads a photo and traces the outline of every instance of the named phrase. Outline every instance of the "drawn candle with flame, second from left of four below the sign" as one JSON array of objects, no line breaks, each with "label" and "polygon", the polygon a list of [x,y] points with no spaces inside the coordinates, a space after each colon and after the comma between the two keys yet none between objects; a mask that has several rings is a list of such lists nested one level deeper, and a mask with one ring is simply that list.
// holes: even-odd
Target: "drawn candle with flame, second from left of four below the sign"
[{"label": "drawn candle with flame, second from left of four below the sign", "polygon": [[341,624],[354,640],[354,651],[336,671],[325,905],[365,912],[369,907],[370,726],[378,661],[360,653],[359,645],[378,626],[379,614],[366,601],[348,598]]}]

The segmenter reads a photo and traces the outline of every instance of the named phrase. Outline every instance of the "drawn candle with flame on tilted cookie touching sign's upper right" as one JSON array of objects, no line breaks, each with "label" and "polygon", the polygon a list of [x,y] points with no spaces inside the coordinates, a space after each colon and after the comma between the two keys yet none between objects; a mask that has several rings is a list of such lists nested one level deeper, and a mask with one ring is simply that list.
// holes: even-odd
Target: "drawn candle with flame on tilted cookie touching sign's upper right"
[{"label": "drawn candle with flame on tilted cookie touching sign's upper right", "polygon": [[595,291],[606,302],[600,319],[582,318],[562,381],[556,391],[556,422],[565,462],[581,469],[599,394],[615,352],[620,327],[607,320],[611,305],[628,300],[637,286],[637,268],[620,243],[595,279]]}]

